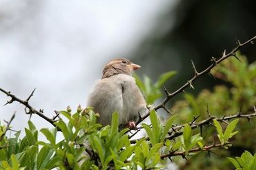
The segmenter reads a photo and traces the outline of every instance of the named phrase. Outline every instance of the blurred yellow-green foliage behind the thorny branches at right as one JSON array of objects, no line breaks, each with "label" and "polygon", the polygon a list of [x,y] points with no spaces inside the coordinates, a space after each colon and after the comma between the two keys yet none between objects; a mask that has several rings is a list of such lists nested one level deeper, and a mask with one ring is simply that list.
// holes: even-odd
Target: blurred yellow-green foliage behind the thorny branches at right
[{"label": "blurred yellow-green foliage behind the thorny branches at right", "polygon": [[[240,111],[252,113],[252,106],[256,105],[256,63],[249,65],[246,57],[239,53],[237,57],[241,62],[232,58],[225,60],[212,70],[212,75],[219,78],[218,82],[224,83],[223,85],[217,85],[212,90],[202,90],[197,97],[185,93],[184,100],[180,100],[172,106],[172,113],[179,114],[179,119],[177,119],[179,123],[191,121],[194,115],[200,115],[198,120],[204,120],[208,115],[222,118],[224,115],[235,115]],[[202,169],[231,169],[229,161],[222,159],[223,157],[240,154],[241,150],[239,151],[237,148],[242,151],[250,148],[250,151],[256,152],[255,143],[251,140],[252,136],[256,135],[255,119],[250,119],[250,122],[247,119],[240,119],[239,123],[236,121],[238,120],[230,122],[229,125],[225,121],[214,121],[220,143],[225,143],[227,140],[235,141],[234,149],[231,147],[229,150],[220,150],[218,155],[211,154],[207,159],[205,159],[207,153],[197,154],[191,158],[193,164],[190,166],[180,164],[180,166],[185,166],[186,169],[198,169],[198,167]],[[242,133],[233,131],[234,126],[237,126],[237,130]],[[199,130],[197,131],[199,132]],[[215,133],[216,130],[212,126],[202,128],[202,136],[206,143],[216,141]],[[234,134],[237,135],[233,136]]]}]

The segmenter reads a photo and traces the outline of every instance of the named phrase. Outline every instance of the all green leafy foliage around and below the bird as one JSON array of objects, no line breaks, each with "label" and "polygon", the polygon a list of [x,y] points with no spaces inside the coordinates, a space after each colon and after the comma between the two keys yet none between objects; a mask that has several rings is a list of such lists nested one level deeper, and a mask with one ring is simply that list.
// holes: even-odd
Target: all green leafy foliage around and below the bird
[{"label": "all green leafy foliage around and below the bird", "polygon": [[[186,169],[218,169],[224,167],[223,164],[231,165],[229,161],[237,169],[254,169],[256,158],[248,151],[240,158],[225,159],[226,162],[216,156],[205,157],[203,153],[219,147],[224,148],[218,150],[220,157],[227,156],[227,149],[232,149],[234,139],[254,148],[252,141],[245,140],[247,135],[255,133],[249,131],[246,121],[222,119],[224,115],[235,115],[240,105],[247,112],[251,105],[256,104],[256,64],[248,65],[245,57],[239,58],[242,64],[237,60],[227,60],[212,72],[215,77],[229,83],[229,88],[219,85],[212,92],[203,90],[198,97],[185,93],[184,100],[172,107],[175,115],[164,123],[156,111],[151,110],[150,124],[139,126],[139,130],[145,130],[145,135],[139,138],[132,138],[129,129],[119,130],[118,113],[112,114],[111,125],[102,127],[97,123],[99,114],[92,108],[82,109],[81,106],[74,113],[70,108],[59,111],[60,119],[54,122],[52,129],[38,131],[28,121],[28,127],[24,129],[26,135],[22,138],[21,132],[7,137],[9,126],[1,125],[0,169],[161,169],[169,159]],[[146,76],[143,82],[137,75],[135,78],[147,103],[154,103],[162,96],[160,88],[174,75],[175,72],[164,73],[155,83]],[[207,106],[209,109],[205,113]],[[199,114],[197,120],[195,115]],[[212,118],[211,114],[219,118],[209,120],[205,126],[196,126],[200,119]],[[251,130],[254,130],[254,125]],[[243,133],[239,134],[235,129]],[[46,140],[39,141],[39,135],[44,135]],[[184,161],[180,161],[184,158],[192,160],[193,164],[185,167]],[[212,164],[214,166],[210,166]]]}]

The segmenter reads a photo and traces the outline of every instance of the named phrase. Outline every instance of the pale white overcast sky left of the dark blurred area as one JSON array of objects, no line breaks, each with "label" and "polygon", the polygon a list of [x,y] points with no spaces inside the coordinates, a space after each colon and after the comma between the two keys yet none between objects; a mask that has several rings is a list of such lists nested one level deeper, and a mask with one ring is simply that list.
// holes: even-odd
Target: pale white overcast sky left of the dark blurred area
[{"label": "pale white overcast sky left of the dark blurred area", "polygon": [[[0,0],[0,87],[52,117],[73,110],[101,78],[103,65],[129,51],[149,34],[159,14],[174,1]],[[168,5],[167,5],[168,4]],[[128,55],[128,56],[127,56]],[[0,104],[8,98],[0,93]],[[22,130],[29,116],[19,103],[0,106],[0,120]],[[50,127],[34,115],[37,129]]]}]

